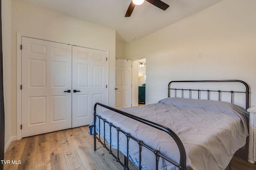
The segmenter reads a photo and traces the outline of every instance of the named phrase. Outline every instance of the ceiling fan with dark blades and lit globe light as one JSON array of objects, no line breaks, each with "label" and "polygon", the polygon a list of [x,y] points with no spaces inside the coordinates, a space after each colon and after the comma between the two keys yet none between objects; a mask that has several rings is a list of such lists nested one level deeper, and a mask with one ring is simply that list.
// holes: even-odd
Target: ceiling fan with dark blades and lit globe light
[{"label": "ceiling fan with dark blades and lit globe light", "polygon": [[[150,4],[153,4],[154,6],[162,9],[162,10],[166,10],[169,5],[162,2],[161,0],[146,0],[148,1]],[[134,10],[136,5],[140,5],[144,2],[144,0],[132,0],[132,2],[130,3],[127,12],[125,14],[125,17],[130,17],[132,14],[132,11]]]}]

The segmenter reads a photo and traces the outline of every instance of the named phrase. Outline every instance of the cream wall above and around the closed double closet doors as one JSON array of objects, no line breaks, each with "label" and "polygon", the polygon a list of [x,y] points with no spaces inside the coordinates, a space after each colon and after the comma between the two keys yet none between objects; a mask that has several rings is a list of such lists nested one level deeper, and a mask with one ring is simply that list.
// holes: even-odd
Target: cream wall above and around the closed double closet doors
[{"label": "cream wall above and around the closed double closet doors", "polygon": [[[34,6],[26,2],[12,0],[12,135],[16,135],[16,33],[26,33],[45,37],[58,42],[109,50],[109,98],[114,96],[115,82],[115,41],[116,31],[84,20],[79,20]],[[114,100],[109,100],[115,106]]]}]

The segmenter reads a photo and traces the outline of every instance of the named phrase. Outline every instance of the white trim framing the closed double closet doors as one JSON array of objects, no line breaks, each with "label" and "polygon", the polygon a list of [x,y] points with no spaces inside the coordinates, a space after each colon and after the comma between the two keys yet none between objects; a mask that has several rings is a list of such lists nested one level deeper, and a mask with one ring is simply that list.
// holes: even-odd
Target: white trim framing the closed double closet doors
[{"label": "white trim framing the closed double closet doors", "polygon": [[106,51],[107,53],[107,64],[106,64],[106,69],[107,69],[107,73],[106,73],[106,84],[107,84],[107,92],[106,92],[106,104],[108,105],[109,102],[109,49],[99,49],[99,48],[94,48],[94,47],[88,47],[88,45],[78,45],[75,43],[67,43],[67,42],[61,42],[59,40],[56,39],[50,39],[50,38],[46,38],[46,37],[40,37],[40,36],[36,36],[36,35],[31,35],[31,34],[27,34],[27,33],[21,33],[21,32],[17,32],[17,51],[16,51],[16,59],[17,59],[17,65],[16,65],[16,74],[17,74],[17,82],[16,82],[16,129],[17,129],[17,136],[16,136],[16,140],[21,139],[21,37],[29,37],[29,38],[34,38],[34,39],[41,39],[41,40],[45,40],[45,41],[52,41],[52,42],[56,42],[56,43],[62,43],[62,44],[68,44],[68,45],[74,45],[74,46],[78,46],[78,47],[84,47],[84,48],[89,48],[89,49],[96,49],[96,50],[100,50],[100,51]]}]

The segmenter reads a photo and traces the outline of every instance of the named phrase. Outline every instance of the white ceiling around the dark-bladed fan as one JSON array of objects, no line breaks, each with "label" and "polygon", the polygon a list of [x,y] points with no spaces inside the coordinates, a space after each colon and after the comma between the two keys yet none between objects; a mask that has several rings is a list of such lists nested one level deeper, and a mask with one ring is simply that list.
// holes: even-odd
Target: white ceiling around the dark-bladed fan
[{"label": "white ceiling around the dark-bladed fan", "polygon": [[115,29],[119,41],[130,43],[222,0],[162,0],[170,5],[165,11],[145,1],[134,8],[130,17],[124,15],[131,0],[22,1]]}]

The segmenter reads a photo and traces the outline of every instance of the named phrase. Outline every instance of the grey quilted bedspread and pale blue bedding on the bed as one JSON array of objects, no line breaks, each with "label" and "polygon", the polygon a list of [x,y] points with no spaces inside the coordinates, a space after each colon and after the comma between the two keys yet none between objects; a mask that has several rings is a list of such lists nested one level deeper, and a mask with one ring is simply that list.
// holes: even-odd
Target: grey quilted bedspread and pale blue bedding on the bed
[{"label": "grey quilted bedspread and pale blue bedding on the bed", "polygon": [[[156,104],[126,107],[120,110],[164,125],[174,131],[185,147],[188,170],[224,170],[236,150],[245,145],[248,136],[246,125],[248,112],[240,106],[227,102],[165,98]],[[124,117],[114,111],[108,110],[97,114],[179,162],[176,143],[163,131]],[[98,128],[97,120],[97,133],[99,133]],[[100,125],[102,137],[104,137],[103,128],[102,121]],[[108,125],[106,125],[106,131],[108,133],[106,133],[105,139],[109,144]],[[117,149],[116,130],[112,128],[111,132],[111,147]],[[120,133],[119,140],[119,149],[126,155],[126,136]],[[138,143],[131,139],[129,141],[129,159],[139,167]],[[154,169],[152,167],[155,167],[155,155],[142,147],[142,169]],[[177,170],[178,168],[160,158],[158,169]]]}]

